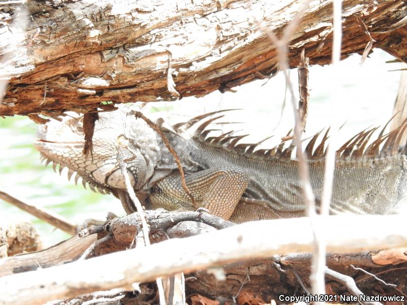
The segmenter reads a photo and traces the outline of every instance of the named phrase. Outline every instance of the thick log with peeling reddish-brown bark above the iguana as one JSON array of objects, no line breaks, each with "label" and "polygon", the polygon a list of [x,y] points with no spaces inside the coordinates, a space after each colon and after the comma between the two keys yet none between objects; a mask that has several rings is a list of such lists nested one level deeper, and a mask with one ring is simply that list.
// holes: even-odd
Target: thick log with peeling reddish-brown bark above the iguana
[{"label": "thick log with peeling reddish-brown bark above the iguana", "polygon": [[[302,1],[253,2],[251,11],[246,0],[28,0],[25,38],[3,72],[11,79],[0,115],[40,121],[36,114],[87,112],[106,101],[175,100],[177,92],[200,97],[271,77],[276,49],[254,18],[279,34]],[[0,9],[3,62],[16,41],[16,8]],[[404,1],[344,1],[342,58],[363,53],[367,30],[373,48],[406,61],[406,15]],[[290,67],[298,66],[303,48],[310,65],[330,63],[332,0],[311,2],[289,46]]]}]

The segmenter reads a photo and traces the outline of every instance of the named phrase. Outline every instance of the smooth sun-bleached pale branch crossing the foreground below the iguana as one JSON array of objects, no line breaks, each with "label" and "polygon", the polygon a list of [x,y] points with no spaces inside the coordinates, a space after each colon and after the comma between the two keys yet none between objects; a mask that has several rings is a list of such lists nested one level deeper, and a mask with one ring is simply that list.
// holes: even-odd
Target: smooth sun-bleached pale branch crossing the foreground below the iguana
[{"label": "smooth sun-bleached pale branch crossing the foreground below the iguana", "polygon": [[[407,245],[403,216],[329,216],[316,217],[315,221],[318,226],[326,228],[327,249],[331,252],[359,252]],[[387,225],[371,226],[378,222]],[[279,234],[265,239],[258,234],[259,231]],[[311,232],[308,218],[257,221],[7,276],[0,278],[0,304],[39,304],[96,290],[132,289],[134,282],[151,281],[182,271],[277,253],[311,252],[314,240]]]}]

